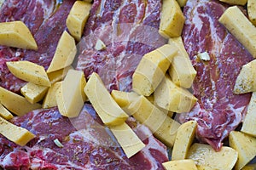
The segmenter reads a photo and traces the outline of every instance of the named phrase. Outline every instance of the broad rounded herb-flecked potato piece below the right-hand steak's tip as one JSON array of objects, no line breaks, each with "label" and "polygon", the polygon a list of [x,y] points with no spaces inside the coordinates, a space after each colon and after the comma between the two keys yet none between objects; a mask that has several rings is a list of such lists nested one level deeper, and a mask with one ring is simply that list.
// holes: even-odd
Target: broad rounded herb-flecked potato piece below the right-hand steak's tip
[{"label": "broad rounded herb-flecked potato piece below the right-hand steak's tip", "polygon": [[237,161],[236,150],[223,146],[218,152],[209,144],[192,144],[187,159],[192,159],[199,170],[231,170]]}]

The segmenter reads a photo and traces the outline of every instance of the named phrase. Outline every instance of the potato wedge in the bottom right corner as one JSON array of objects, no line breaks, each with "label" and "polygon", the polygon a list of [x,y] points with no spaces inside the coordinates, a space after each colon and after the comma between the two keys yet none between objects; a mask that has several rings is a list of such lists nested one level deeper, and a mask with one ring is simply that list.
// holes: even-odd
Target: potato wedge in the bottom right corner
[{"label": "potato wedge in the bottom right corner", "polygon": [[230,147],[238,152],[235,170],[240,170],[256,156],[256,138],[245,133],[231,131],[229,141]]}]

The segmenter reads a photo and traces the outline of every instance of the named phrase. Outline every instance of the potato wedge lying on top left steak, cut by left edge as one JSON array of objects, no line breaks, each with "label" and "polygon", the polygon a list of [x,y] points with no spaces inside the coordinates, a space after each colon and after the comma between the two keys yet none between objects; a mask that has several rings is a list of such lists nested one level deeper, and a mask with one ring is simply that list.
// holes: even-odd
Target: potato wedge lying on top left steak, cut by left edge
[{"label": "potato wedge lying on top left steak, cut by left edge", "polygon": [[32,37],[32,33],[22,21],[18,20],[0,23],[0,45],[14,48],[38,49],[37,42]]}]

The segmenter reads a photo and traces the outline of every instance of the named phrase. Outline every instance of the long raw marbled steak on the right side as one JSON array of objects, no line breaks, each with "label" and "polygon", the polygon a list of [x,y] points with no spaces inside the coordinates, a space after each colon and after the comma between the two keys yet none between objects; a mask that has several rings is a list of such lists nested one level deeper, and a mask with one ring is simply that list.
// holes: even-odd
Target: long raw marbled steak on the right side
[{"label": "long raw marbled steak on the right side", "polygon": [[[183,42],[197,71],[193,90],[198,103],[182,119],[196,120],[198,139],[215,150],[220,150],[225,137],[239,125],[251,96],[232,92],[241,66],[253,57],[218,23],[225,8],[216,1],[189,0],[183,9]],[[198,59],[196,54],[202,52],[208,52],[211,59]]]}]

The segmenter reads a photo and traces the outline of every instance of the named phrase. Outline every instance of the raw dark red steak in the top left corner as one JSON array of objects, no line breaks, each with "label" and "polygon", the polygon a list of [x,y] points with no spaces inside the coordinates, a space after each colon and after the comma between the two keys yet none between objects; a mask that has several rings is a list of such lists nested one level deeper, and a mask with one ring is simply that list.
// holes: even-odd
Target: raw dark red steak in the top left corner
[{"label": "raw dark red steak in the top left corner", "polygon": [[29,60],[48,68],[66,18],[75,0],[63,1],[57,8],[52,0],[6,0],[0,10],[0,22],[22,20],[32,31],[38,51],[0,46],[0,86],[19,92],[25,82],[14,77],[7,69],[7,61]]}]

